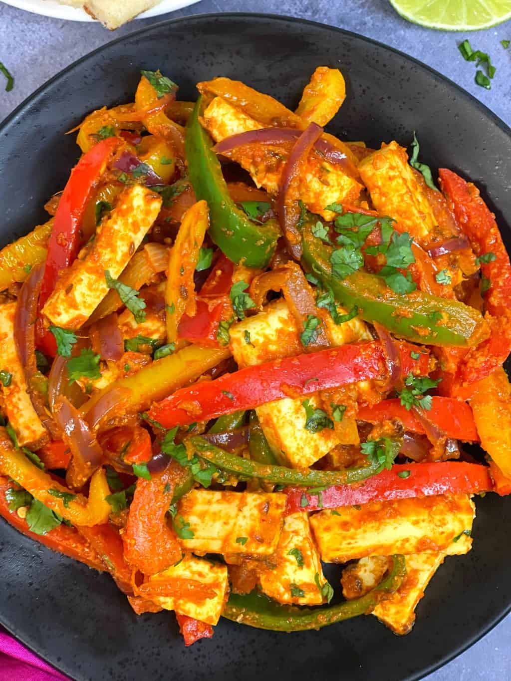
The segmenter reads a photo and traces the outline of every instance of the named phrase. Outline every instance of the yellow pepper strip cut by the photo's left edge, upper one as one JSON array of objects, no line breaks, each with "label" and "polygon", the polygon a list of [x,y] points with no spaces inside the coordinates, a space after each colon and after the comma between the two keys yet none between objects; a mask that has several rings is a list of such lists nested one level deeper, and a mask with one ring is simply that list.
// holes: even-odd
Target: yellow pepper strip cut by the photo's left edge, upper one
[{"label": "yellow pepper strip cut by the photo's left edge, upper one", "polygon": [[33,267],[44,262],[53,221],[50,218],[44,225],[35,227],[30,234],[7,244],[0,251],[0,291],[4,291],[15,281],[22,283]]}]

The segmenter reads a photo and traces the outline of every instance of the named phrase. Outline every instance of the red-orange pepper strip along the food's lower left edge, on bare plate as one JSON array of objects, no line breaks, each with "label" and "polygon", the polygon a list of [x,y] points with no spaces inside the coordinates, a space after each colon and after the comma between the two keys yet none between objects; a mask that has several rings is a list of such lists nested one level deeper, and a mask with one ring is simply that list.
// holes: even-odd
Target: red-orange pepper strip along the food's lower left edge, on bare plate
[{"label": "red-orange pepper strip along the food's lower left edge, on bare plate", "polygon": [[59,553],[80,560],[80,563],[85,563],[95,570],[104,571],[105,565],[97,552],[89,544],[87,539],[84,539],[78,530],[74,527],[61,524],[58,527],[50,530],[46,535],[36,535],[29,530],[29,526],[25,518],[18,516],[16,511],[10,511],[9,504],[5,498],[5,492],[12,488],[12,482],[5,477],[0,477],[0,516],[5,518],[7,522],[16,528],[20,533],[31,539],[35,539],[44,546],[58,551]]}]

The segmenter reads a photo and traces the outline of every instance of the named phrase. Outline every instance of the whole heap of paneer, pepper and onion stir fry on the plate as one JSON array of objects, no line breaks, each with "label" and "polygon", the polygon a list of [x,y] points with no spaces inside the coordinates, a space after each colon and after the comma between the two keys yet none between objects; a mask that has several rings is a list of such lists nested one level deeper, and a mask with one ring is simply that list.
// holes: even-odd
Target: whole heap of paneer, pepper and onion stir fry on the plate
[{"label": "whole heap of paneer, pepper and onion stir fry on the plate", "polygon": [[475,496],[511,492],[495,216],[413,131],[326,133],[338,69],[295,111],[197,88],[143,71],[84,118],[50,219],[0,253],[0,514],[186,645],[221,616],[405,634]]}]

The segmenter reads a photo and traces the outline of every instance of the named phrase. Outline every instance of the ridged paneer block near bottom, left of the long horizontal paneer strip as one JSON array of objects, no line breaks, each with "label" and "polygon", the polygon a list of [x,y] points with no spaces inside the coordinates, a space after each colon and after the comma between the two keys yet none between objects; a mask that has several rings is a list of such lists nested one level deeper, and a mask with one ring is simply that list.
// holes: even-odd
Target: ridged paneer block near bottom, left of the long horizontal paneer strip
[{"label": "ridged paneer block near bottom, left of the long horizontal paneer strip", "polygon": [[181,539],[190,551],[269,556],[279,541],[284,508],[285,494],[191,490],[179,503],[174,525],[193,533]]}]

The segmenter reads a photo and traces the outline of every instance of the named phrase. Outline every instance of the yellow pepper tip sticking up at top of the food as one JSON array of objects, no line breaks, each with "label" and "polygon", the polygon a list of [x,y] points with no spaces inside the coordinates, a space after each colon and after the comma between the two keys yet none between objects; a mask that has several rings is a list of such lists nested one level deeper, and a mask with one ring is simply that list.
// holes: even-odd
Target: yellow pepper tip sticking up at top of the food
[{"label": "yellow pepper tip sticking up at top of the food", "polygon": [[339,69],[318,66],[303,90],[296,114],[305,123],[326,125],[337,114],[346,97],[346,85]]}]

